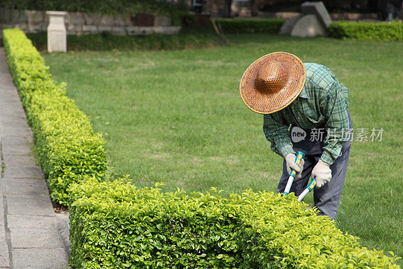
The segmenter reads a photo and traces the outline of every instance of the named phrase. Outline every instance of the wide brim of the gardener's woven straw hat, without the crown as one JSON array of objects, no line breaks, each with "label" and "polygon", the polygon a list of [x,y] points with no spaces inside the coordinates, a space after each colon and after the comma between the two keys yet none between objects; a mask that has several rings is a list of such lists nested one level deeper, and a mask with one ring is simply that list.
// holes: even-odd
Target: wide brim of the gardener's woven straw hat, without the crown
[{"label": "wide brim of the gardener's woven straw hat, without the crown", "polygon": [[[273,60],[282,63],[288,70],[287,82],[277,93],[267,94],[256,90],[256,73],[262,63]],[[301,93],[306,79],[302,61],[287,52],[273,52],[253,62],[245,71],[239,84],[243,102],[250,110],[259,114],[271,114],[284,109]]]}]

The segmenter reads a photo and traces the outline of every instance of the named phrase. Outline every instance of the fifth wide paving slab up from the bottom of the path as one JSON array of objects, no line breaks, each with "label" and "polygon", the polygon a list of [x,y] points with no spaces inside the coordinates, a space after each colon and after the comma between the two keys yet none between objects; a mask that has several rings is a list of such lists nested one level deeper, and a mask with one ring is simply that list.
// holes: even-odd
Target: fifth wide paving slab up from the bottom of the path
[{"label": "fifth wide paving slab up from the bottom of the path", "polygon": [[49,190],[44,179],[6,178],[6,192],[7,194],[49,194]]}]

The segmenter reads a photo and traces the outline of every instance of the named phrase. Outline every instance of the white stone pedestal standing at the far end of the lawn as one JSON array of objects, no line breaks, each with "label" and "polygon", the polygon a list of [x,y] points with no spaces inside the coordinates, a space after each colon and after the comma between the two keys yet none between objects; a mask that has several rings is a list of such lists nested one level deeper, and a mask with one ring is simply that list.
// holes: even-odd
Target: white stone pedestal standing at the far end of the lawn
[{"label": "white stone pedestal standing at the far end of the lawn", "polygon": [[64,11],[46,11],[49,17],[47,27],[47,51],[67,51],[66,27],[64,26]]}]

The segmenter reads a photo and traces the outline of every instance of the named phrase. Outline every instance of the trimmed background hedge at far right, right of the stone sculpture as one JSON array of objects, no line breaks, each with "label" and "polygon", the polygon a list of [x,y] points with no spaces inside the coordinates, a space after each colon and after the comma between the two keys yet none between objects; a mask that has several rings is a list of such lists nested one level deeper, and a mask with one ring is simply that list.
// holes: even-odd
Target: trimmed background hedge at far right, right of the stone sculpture
[{"label": "trimmed background hedge at far right, right of the stone sculpture", "polygon": [[329,26],[329,36],[368,41],[403,41],[402,22],[339,21]]}]

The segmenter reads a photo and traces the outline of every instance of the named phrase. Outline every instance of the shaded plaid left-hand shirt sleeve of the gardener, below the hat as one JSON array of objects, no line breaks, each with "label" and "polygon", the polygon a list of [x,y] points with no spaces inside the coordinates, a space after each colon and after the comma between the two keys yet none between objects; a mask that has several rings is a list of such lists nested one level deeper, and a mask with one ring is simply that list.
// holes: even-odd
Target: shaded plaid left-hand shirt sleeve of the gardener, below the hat
[{"label": "shaded plaid left-hand shirt sleeve of the gardener, below the hat", "polygon": [[274,152],[285,158],[289,153],[295,153],[291,139],[288,136],[288,124],[283,116],[276,112],[263,116],[263,132],[267,141],[270,141]]}]

